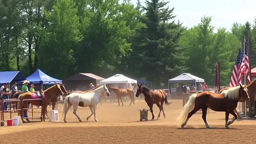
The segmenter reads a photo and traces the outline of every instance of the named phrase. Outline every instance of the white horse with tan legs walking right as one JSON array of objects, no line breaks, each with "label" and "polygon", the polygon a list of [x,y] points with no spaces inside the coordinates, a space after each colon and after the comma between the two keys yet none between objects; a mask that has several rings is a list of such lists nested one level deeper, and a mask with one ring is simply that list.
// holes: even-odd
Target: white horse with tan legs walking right
[{"label": "white horse with tan legs walking right", "polygon": [[73,105],[74,110],[73,114],[76,115],[78,120],[81,122],[81,118],[76,114],[77,107],[90,107],[91,114],[87,117],[87,120],[91,117],[91,115],[94,114],[94,120],[98,121],[96,119],[96,105],[99,102],[99,98],[102,95],[110,96],[110,93],[108,92],[108,89],[106,88],[106,85],[98,87],[95,90],[92,90],[88,93],[82,94],[82,93],[71,93],[70,95],[66,96],[64,104],[63,104],[63,111],[62,111],[62,117],[64,115],[64,122],[66,123],[66,114],[69,111],[70,107]]}]

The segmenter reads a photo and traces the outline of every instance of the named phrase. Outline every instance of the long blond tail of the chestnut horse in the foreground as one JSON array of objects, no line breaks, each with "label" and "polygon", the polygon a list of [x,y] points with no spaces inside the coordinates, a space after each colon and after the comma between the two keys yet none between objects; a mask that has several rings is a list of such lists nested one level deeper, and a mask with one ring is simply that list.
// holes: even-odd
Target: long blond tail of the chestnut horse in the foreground
[{"label": "long blond tail of the chestnut horse in the foreground", "polygon": [[184,121],[187,118],[187,115],[189,115],[189,113],[194,109],[196,98],[197,98],[197,94],[192,94],[189,97],[189,101],[187,101],[187,103],[184,105],[180,115],[177,118],[178,126],[180,126],[180,124],[184,123]]}]

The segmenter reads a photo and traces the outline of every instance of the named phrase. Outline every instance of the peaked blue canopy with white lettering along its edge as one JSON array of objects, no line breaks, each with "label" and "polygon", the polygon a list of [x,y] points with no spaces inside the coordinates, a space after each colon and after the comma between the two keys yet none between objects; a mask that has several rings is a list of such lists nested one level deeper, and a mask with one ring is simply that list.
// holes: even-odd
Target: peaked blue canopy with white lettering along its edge
[{"label": "peaked blue canopy with white lettering along its edge", "polygon": [[52,78],[49,75],[44,74],[40,69],[37,69],[32,75],[26,78],[30,84],[62,84],[62,80]]}]

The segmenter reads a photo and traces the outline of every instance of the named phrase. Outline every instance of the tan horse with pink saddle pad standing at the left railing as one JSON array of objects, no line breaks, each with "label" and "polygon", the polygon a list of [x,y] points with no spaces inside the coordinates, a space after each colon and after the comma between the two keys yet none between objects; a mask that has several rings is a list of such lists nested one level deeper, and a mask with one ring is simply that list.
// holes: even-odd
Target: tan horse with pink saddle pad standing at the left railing
[{"label": "tan horse with pink saddle pad standing at the left railing", "polygon": [[[43,99],[43,109],[41,110],[41,115],[43,117],[41,117],[41,121],[43,121],[43,120],[45,121],[46,108],[47,108],[47,105],[50,104],[53,95],[55,93],[58,93],[59,95],[62,95],[63,93],[61,91],[59,83],[55,84],[54,86],[50,87],[47,90],[44,90],[44,91],[40,90],[40,91],[42,92],[40,94],[31,93],[31,92],[23,93],[23,94],[19,95],[18,99],[20,99],[21,102],[22,102],[24,99],[38,99],[38,97],[41,97]],[[38,95],[40,95],[40,96],[38,96]],[[28,104],[40,106],[41,101],[24,101],[23,108],[27,108]],[[20,102],[18,102],[18,109],[20,109],[20,107],[21,107],[21,104],[20,104]],[[22,114],[23,114],[23,110],[20,111],[20,113],[18,113],[18,116],[20,116]],[[24,121],[23,117],[21,117],[21,120]],[[27,122],[29,122],[28,118],[26,118],[26,120],[27,120]]]}]

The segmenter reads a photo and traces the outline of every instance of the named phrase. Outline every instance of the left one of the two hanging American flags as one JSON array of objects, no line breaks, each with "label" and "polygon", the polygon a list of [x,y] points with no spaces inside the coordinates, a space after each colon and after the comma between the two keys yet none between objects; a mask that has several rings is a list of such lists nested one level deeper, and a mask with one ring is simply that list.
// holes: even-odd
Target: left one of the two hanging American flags
[{"label": "left one of the two hanging American flags", "polygon": [[236,87],[238,86],[238,84],[241,84],[241,79],[240,81],[238,81],[238,78],[241,77],[241,71],[240,71],[240,66],[241,66],[241,48],[238,49],[238,54],[236,57],[236,62],[235,62],[235,66],[232,72],[232,76],[231,76],[231,80],[229,83],[230,87]]}]

